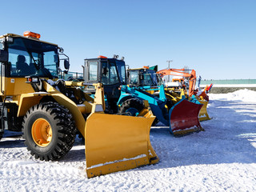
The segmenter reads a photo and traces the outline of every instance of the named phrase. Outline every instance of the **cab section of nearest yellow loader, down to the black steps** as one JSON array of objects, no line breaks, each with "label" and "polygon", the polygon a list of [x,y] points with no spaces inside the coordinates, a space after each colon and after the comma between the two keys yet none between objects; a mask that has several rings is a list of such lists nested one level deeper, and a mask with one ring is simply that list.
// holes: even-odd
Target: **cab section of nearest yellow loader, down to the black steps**
[{"label": "cab section of nearest yellow loader, down to the black steps", "polygon": [[[39,78],[58,78],[60,60],[64,61],[66,70],[69,68],[68,57],[59,58],[62,54],[58,52],[63,49],[56,44],[42,42],[39,38],[40,34],[30,31],[23,36],[0,36],[0,138],[6,128],[14,131],[22,128],[23,117],[17,116],[19,102],[14,101],[18,101],[22,94],[38,92],[34,89],[34,83]],[[32,86],[27,83],[30,80],[34,81]]]}]

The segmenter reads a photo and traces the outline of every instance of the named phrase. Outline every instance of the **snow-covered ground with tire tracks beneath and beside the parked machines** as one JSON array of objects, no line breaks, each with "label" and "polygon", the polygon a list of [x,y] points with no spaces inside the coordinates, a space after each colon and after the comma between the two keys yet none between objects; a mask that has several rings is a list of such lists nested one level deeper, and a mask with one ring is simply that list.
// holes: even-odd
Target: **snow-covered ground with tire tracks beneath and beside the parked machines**
[{"label": "snow-covered ground with tire tracks beneath and beside the parked machines", "polygon": [[207,110],[206,131],[174,138],[166,126],[151,128],[158,164],[90,179],[81,140],[62,161],[41,162],[6,131],[0,191],[256,191],[256,92],[210,94]]}]

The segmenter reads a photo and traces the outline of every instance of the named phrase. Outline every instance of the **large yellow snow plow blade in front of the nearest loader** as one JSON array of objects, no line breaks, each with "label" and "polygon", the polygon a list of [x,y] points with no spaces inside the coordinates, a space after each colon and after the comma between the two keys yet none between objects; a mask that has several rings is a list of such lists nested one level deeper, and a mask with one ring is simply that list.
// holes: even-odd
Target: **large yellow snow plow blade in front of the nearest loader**
[{"label": "large yellow snow plow blade in front of the nearest loader", "polygon": [[88,178],[130,170],[159,161],[150,144],[154,116],[90,114],[86,119],[86,173]]}]

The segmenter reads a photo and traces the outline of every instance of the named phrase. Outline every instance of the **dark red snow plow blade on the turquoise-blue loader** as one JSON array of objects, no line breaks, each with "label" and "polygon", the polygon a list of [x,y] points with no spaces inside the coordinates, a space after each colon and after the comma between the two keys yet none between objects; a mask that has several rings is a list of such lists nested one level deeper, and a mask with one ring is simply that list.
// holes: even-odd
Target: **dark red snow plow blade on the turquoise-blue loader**
[{"label": "dark red snow plow blade on the turquoise-blue loader", "polygon": [[198,114],[202,104],[189,102],[186,99],[176,103],[169,111],[170,132],[174,135],[188,134],[203,130]]}]

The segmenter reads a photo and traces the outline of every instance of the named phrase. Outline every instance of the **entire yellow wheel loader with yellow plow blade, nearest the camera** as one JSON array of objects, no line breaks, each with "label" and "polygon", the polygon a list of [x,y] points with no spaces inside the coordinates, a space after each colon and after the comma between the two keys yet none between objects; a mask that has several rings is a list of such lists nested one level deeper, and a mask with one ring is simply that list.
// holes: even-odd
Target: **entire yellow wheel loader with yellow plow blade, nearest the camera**
[{"label": "entire yellow wheel loader with yellow plow blade, nearest the camera", "polygon": [[150,144],[154,116],[147,106],[139,117],[104,114],[102,84],[94,98],[84,82],[67,82],[60,74],[70,62],[63,49],[32,32],[0,36],[0,137],[22,131],[35,158],[58,160],[72,148],[79,131],[86,142],[88,178],[158,162]]}]

